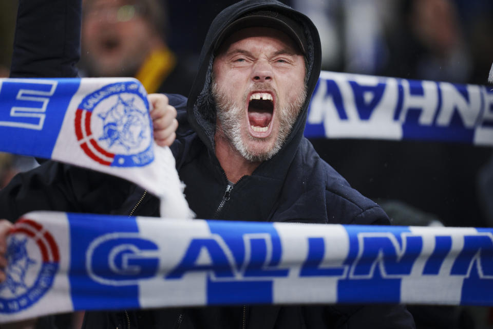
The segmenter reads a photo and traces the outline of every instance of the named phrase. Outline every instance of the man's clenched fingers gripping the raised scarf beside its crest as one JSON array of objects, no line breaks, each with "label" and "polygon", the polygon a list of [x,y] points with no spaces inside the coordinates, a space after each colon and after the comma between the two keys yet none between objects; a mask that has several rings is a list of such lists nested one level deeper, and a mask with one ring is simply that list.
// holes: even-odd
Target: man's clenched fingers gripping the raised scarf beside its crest
[{"label": "man's clenched fingers gripping the raised scarf beside its crest", "polygon": [[168,98],[161,94],[150,94],[149,101],[153,104],[150,117],[153,119],[154,140],[160,146],[169,146],[176,138],[178,121],[176,109],[168,104]]}]

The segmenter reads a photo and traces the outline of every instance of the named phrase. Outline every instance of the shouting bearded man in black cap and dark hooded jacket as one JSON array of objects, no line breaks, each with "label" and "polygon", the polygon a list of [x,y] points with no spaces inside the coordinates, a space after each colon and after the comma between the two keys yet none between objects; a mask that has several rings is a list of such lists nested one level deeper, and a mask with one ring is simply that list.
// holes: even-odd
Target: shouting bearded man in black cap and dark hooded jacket
[{"label": "shouting bearded man in black cap and dark hooded jacket", "polygon": [[[188,100],[169,97],[180,122],[171,148],[198,218],[389,224],[385,212],[352,189],[303,137],[320,59],[313,23],[280,2],[242,1],[216,17]],[[94,177],[102,175],[82,169],[57,163],[40,168],[0,193],[2,204],[10,202],[0,215],[15,218],[30,210],[26,195],[36,190],[43,190],[44,202],[29,207],[38,210],[158,214],[155,197],[121,179],[101,184]],[[33,180],[36,184],[29,184]],[[414,323],[400,305],[243,305],[87,312],[83,327],[413,328]]]}]

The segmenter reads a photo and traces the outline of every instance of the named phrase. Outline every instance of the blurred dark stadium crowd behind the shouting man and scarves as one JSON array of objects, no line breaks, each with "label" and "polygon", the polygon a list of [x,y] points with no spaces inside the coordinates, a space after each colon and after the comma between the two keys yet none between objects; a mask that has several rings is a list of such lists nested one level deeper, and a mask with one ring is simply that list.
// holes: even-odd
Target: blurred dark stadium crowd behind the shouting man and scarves
[{"label": "blurred dark stadium crowd behind the shouting man and scarves", "polygon": [[[149,93],[187,95],[208,26],[234,2],[84,0],[81,75],[133,76]],[[492,0],[283,2],[318,27],[324,70],[487,84],[493,63]],[[16,11],[16,0],[0,2],[0,77],[9,74]],[[423,141],[312,142],[354,188],[380,203],[394,224],[493,226],[491,148]],[[0,188],[32,166],[29,158],[0,154]],[[493,327],[491,309],[426,312],[414,313],[419,328]]]}]

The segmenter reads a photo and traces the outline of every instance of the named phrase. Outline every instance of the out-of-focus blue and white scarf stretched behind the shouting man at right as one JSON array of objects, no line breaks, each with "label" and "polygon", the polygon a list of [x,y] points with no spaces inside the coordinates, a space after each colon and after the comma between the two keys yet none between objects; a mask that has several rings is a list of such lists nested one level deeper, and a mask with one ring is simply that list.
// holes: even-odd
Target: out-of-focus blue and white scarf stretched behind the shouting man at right
[{"label": "out-of-focus blue and white scarf stretched behind the shouting man at right", "polygon": [[493,88],[323,71],[305,136],[491,146]]}]

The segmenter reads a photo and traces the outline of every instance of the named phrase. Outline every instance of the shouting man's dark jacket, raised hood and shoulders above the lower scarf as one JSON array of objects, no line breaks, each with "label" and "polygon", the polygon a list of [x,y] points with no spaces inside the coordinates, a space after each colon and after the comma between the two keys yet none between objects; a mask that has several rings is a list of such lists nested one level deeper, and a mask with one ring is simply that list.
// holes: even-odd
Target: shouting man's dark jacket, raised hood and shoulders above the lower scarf
[{"label": "shouting man's dark jacket, raised hood and shoulders above the lower scarf", "polygon": [[[216,113],[211,100],[214,45],[221,31],[245,13],[278,11],[302,25],[308,41],[307,91],[320,72],[320,40],[313,23],[277,1],[243,1],[223,10],[212,23],[200,54],[199,73],[187,101],[187,124],[180,125],[173,151],[185,195],[199,218],[310,223],[388,224],[387,215],[321,160],[303,137],[310,97],[282,149],[252,175],[242,177],[217,207],[228,185],[214,152]],[[185,116],[180,113],[180,117]],[[180,118],[179,117],[179,118]]]}]

